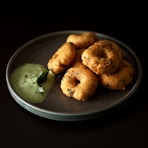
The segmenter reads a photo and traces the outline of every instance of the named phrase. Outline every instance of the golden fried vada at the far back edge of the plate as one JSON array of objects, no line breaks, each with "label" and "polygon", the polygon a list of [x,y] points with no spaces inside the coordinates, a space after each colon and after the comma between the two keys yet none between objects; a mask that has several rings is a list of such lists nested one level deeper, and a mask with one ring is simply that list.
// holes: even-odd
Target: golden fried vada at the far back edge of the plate
[{"label": "golden fried vada at the far back edge of the plate", "polygon": [[77,46],[78,49],[87,48],[98,40],[98,37],[93,32],[84,32],[82,34],[70,34],[66,42],[71,42]]}]

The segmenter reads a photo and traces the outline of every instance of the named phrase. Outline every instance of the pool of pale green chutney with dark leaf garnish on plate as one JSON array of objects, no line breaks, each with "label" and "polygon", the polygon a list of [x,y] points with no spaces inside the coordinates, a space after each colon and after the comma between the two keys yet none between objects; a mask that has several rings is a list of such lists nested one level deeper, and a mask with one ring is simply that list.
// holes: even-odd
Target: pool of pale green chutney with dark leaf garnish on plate
[{"label": "pool of pale green chutney with dark leaf garnish on plate", "polygon": [[10,81],[15,92],[30,103],[41,103],[47,97],[55,75],[41,64],[25,63],[14,69]]}]

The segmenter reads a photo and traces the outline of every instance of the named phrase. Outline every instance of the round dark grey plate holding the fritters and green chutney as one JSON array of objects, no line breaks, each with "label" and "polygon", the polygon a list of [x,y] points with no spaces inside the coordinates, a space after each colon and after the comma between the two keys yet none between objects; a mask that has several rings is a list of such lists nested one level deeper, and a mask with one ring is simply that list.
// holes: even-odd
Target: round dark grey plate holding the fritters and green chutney
[{"label": "round dark grey plate holding the fritters and green chutney", "polygon": [[10,58],[6,68],[6,82],[10,94],[14,100],[29,112],[53,120],[59,121],[79,121],[92,119],[102,115],[121,103],[134,94],[137,90],[142,77],[142,66],[134,51],[122,43],[121,41],[95,32],[100,39],[110,39],[116,42],[126,53],[126,58],[134,65],[135,73],[132,84],[124,91],[109,91],[107,89],[98,88],[95,95],[86,102],[79,102],[72,98],[66,97],[60,90],[60,80],[62,75],[56,77],[56,82],[51,89],[48,97],[43,103],[30,104],[20,98],[13,90],[10,84],[10,73],[18,65],[26,62],[40,63],[47,66],[49,58],[53,53],[65,42],[67,36],[71,33],[82,33],[83,31],[59,31],[49,33],[37,37],[23,46],[21,46]]}]

